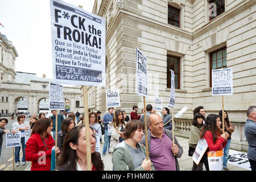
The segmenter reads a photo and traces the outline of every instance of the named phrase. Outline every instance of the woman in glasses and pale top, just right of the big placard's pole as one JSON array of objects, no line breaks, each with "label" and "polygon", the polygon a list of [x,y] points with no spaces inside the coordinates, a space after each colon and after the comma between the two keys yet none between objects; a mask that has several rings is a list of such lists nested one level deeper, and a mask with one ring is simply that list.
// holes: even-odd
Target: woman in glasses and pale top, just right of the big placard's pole
[{"label": "woman in glasses and pale top, just right of the big placard's pole", "polygon": [[101,125],[98,123],[97,114],[94,112],[89,113],[89,124],[93,128],[96,137],[96,152],[100,152],[100,139],[102,137]]}]

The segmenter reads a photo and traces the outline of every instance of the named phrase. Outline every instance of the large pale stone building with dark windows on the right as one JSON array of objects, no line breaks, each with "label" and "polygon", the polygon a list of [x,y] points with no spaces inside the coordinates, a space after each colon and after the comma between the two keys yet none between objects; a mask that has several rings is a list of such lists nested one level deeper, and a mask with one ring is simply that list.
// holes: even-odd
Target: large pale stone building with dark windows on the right
[{"label": "large pale stone building with dark windows on the right", "polygon": [[[192,110],[199,105],[204,106],[206,115],[221,110],[221,96],[211,94],[210,73],[221,67],[233,68],[233,95],[224,96],[224,109],[236,127],[232,147],[247,150],[243,125],[247,108],[256,105],[255,3],[96,0],[93,13],[106,18],[106,88],[88,88],[94,93],[92,108],[106,111],[105,89],[119,88],[120,109],[127,113],[133,105],[142,109],[143,99],[135,92],[135,47],[148,59],[146,104],[152,104],[159,88],[163,106],[168,105],[168,70],[174,69],[174,113],[185,105],[189,108],[183,119],[192,119]],[[187,136],[189,123],[176,123],[176,132]]]}]

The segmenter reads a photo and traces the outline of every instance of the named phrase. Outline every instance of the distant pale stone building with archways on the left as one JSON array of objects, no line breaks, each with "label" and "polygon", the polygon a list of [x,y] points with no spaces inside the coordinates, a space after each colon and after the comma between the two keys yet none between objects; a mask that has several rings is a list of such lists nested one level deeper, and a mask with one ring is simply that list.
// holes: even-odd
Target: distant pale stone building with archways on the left
[{"label": "distant pale stone building with archways on the left", "polygon": [[[11,41],[1,33],[0,52],[0,112],[2,117],[19,111],[18,103],[21,99],[26,101],[24,106],[26,108],[23,109],[29,111],[31,115],[38,115],[40,102],[49,98],[48,85],[52,79],[38,77],[35,73],[15,72],[15,58],[18,53]],[[79,86],[64,86],[63,96],[71,111],[76,112],[80,109]]]}]

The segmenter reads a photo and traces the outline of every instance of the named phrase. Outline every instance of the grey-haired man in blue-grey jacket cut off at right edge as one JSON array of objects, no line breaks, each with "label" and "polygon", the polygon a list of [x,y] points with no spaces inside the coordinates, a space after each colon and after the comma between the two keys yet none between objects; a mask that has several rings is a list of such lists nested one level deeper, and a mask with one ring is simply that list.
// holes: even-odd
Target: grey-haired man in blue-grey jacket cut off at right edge
[{"label": "grey-haired man in blue-grey jacket cut off at right edge", "polygon": [[251,171],[256,171],[256,106],[247,109],[244,132],[248,142],[247,158],[251,164]]}]

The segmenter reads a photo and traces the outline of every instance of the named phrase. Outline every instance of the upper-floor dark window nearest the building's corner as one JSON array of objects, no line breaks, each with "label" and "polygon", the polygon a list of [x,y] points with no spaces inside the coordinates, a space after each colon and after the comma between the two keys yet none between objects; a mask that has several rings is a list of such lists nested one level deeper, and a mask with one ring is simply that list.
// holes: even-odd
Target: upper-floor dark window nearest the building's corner
[{"label": "upper-floor dark window nearest the building's corner", "polygon": [[180,9],[168,5],[168,24],[180,27]]}]

